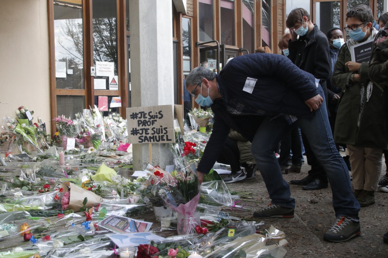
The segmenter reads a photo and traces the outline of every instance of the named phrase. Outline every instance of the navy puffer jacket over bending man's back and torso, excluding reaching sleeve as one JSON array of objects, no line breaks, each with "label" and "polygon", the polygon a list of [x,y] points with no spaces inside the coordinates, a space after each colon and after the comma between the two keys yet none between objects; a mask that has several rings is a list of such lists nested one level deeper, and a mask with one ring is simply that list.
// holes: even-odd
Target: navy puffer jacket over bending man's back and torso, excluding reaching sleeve
[{"label": "navy puffer jacket over bending man's back and torso, excluding reaching sleeve", "polygon": [[[242,91],[247,77],[257,79],[252,94]],[[224,101],[230,98],[270,113],[311,117],[306,100],[318,94],[312,74],[283,55],[255,53],[238,56],[217,75]]]}]

